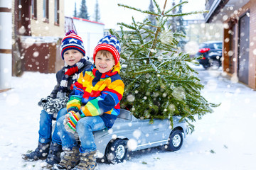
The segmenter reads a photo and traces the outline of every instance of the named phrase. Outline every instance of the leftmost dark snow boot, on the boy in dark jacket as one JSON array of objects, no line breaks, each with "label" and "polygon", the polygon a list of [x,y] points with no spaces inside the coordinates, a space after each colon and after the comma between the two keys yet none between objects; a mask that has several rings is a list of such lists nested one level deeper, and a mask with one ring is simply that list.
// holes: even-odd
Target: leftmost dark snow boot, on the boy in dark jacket
[{"label": "leftmost dark snow boot, on the boy in dark jacket", "polygon": [[41,142],[38,142],[38,147],[35,149],[35,151],[29,153],[29,154],[22,154],[22,159],[26,161],[36,161],[38,159],[46,159],[50,149],[50,142],[46,144],[42,144]]}]

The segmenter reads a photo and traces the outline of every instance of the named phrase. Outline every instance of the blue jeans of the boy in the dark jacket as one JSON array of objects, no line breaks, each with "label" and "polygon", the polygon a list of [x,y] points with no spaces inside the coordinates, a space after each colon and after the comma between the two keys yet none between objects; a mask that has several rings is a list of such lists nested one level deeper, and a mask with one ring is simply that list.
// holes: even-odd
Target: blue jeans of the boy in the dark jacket
[{"label": "blue jeans of the boy in the dark jacket", "polygon": [[[57,115],[56,120],[60,118],[61,116],[65,115],[67,113],[67,108],[62,108]],[[48,114],[46,111],[42,111],[40,114],[40,125],[39,125],[39,142],[46,144],[50,141],[58,143],[58,145],[61,145],[60,136],[58,135],[58,128],[55,126],[54,132],[52,135],[52,122],[55,120],[53,118],[53,114]]]}]

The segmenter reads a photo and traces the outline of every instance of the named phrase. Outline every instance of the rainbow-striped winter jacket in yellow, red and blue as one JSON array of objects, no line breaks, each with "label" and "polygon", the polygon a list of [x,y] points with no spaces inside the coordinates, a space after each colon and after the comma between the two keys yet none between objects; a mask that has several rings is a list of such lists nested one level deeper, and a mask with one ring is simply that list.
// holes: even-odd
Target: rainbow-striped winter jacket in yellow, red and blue
[{"label": "rainbow-striped winter jacket in yellow, red and blue", "polygon": [[73,95],[67,103],[68,111],[80,112],[81,117],[100,115],[107,128],[112,128],[120,113],[119,101],[124,83],[119,76],[120,64],[100,73],[93,65],[80,73]]}]

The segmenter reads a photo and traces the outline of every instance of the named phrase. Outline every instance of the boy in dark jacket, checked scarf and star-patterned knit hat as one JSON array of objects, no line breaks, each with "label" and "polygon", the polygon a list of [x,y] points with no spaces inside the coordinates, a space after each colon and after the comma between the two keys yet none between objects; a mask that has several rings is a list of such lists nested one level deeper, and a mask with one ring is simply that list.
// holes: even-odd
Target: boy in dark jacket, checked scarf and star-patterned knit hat
[{"label": "boy in dark jacket, checked scarf and star-patterned knit hat", "polygon": [[80,72],[92,65],[85,57],[82,39],[74,30],[66,33],[60,50],[61,57],[65,61],[65,67],[57,72],[57,85],[55,85],[50,96],[42,98],[38,103],[39,106],[43,107],[40,115],[38,147],[29,154],[23,154],[23,159],[28,161],[46,159],[46,162],[50,165],[60,162],[60,152],[63,152],[63,150],[57,128],[55,128],[52,135],[52,121],[65,115],[66,109],[61,108],[65,108],[68,96],[73,90],[72,84],[77,81]]}]

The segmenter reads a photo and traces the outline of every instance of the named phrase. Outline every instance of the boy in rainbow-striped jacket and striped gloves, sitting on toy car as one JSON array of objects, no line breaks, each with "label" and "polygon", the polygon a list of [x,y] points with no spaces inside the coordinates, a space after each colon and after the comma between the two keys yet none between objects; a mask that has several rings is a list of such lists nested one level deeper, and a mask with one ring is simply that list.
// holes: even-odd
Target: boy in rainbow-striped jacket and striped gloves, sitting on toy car
[{"label": "boy in rainbow-striped jacket and striped gloves, sitting on toy car", "polygon": [[[57,122],[64,157],[53,169],[95,169],[96,145],[92,132],[112,128],[124,93],[124,83],[119,76],[119,52],[117,38],[105,36],[95,47],[94,65],[80,73],[75,93],[67,103],[68,114]],[[80,138],[80,148],[75,132]]]}]

